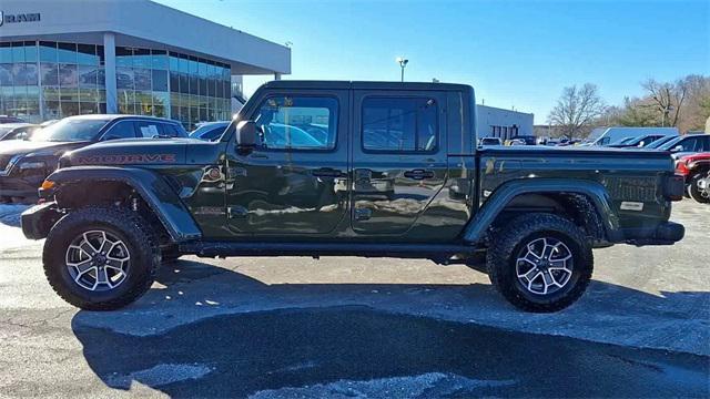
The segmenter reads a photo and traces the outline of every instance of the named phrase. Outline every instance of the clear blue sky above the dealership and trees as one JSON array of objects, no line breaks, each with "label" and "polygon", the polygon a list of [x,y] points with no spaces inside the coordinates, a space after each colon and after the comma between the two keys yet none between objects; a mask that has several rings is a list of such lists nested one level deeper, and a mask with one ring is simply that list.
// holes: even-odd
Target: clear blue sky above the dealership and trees
[{"label": "clear blue sky above the dealership and trees", "polygon": [[[159,2],[293,43],[284,79],[398,80],[405,55],[406,80],[471,84],[535,123],[566,85],[596,83],[618,104],[648,78],[710,74],[708,0]],[[266,79],[245,79],[246,93]]]}]

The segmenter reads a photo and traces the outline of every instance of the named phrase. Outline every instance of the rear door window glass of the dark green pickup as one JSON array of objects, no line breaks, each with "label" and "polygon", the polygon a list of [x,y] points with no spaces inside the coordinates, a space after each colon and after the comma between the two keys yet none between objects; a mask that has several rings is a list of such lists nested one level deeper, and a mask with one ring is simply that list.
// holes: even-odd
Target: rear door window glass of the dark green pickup
[{"label": "rear door window glass of the dark green pickup", "polygon": [[363,101],[363,149],[432,152],[437,141],[437,104],[426,98],[369,98]]}]

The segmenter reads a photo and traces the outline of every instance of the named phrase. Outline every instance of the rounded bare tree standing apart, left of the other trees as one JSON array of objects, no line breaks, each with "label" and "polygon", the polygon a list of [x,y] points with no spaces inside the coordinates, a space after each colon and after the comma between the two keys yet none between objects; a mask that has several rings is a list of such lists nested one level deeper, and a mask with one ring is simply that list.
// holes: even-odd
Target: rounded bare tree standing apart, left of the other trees
[{"label": "rounded bare tree standing apart, left of the other trees", "polygon": [[589,133],[605,109],[597,86],[585,83],[581,88],[565,88],[547,120],[550,124],[559,126],[565,136],[572,139]]}]

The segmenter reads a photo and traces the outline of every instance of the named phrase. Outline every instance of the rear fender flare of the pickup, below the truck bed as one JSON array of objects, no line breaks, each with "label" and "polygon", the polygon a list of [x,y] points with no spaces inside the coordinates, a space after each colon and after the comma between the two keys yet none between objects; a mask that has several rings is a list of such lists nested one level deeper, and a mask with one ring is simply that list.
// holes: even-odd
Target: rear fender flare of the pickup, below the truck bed
[{"label": "rear fender flare of the pickup, below the truck bed", "polygon": [[523,194],[568,193],[587,196],[601,218],[607,239],[619,238],[619,217],[611,206],[611,197],[604,185],[592,181],[561,178],[529,178],[503,184],[494,191],[464,229],[464,241],[480,243],[496,217],[513,201]]}]

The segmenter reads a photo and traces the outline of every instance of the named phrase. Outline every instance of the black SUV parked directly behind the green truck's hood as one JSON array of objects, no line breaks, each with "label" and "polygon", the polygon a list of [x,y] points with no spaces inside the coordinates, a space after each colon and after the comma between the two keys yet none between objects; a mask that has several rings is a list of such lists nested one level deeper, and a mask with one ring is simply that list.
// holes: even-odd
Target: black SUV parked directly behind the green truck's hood
[{"label": "black SUV parked directly behind the green truck's hood", "polygon": [[34,201],[37,188],[52,173],[62,154],[92,143],[135,137],[186,137],[175,121],[132,115],[65,117],[28,141],[0,145],[0,201]]}]

